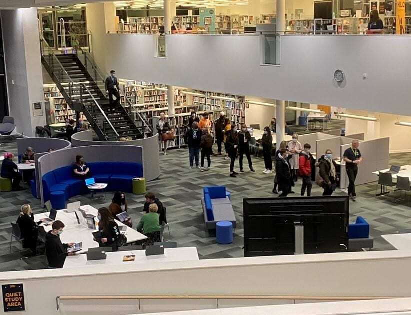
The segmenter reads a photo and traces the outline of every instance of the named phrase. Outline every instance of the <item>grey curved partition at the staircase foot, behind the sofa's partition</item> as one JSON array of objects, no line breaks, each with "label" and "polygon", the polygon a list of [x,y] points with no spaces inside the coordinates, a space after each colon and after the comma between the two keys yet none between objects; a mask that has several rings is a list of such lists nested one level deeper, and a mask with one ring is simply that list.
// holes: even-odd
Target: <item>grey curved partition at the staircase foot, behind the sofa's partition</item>
[{"label": "grey curved partition at the staircase foot, behind the sofa's partition", "polygon": [[160,176],[160,156],[158,154],[158,136],[131,141],[96,141],[90,130],[75,133],[71,137],[73,147],[89,145],[135,145],[144,148],[144,177],[152,181]]}]

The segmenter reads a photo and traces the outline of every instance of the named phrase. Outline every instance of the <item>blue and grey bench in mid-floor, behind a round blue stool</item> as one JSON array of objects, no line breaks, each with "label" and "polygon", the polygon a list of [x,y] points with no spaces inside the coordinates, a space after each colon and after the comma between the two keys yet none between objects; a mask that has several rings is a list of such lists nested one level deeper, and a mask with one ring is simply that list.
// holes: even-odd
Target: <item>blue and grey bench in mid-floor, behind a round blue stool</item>
[{"label": "blue and grey bench in mid-floor, behind a round blue stool", "polygon": [[230,221],[236,228],[237,220],[224,186],[204,187],[201,206],[206,230],[214,230],[218,221]]}]

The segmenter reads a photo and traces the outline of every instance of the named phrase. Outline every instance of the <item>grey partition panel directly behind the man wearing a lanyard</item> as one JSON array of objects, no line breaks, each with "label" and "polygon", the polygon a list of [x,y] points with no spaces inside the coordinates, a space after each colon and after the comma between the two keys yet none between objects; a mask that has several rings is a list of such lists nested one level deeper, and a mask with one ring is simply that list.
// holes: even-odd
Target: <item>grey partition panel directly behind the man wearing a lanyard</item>
[{"label": "grey partition panel directly behind the man wearing a lanyard", "polygon": [[[350,147],[351,143],[342,145],[341,156]],[[372,172],[388,168],[389,147],[390,137],[360,141],[359,150],[363,161],[358,165],[356,184],[374,182],[377,180],[377,175]],[[345,188],[346,184],[348,185],[348,179],[340,187]]]}]

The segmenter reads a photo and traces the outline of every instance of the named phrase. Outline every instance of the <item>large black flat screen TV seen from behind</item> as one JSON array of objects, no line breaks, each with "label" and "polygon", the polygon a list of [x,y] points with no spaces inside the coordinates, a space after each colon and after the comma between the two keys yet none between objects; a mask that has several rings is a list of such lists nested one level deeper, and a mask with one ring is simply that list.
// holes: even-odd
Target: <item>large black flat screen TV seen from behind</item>
[{"label": "large black flat screen TV seen from behind", "polygon": [[244,256],[288,255],[295,226],[304,227],[304,253],[346,251],[347,196],[243,199]]}]

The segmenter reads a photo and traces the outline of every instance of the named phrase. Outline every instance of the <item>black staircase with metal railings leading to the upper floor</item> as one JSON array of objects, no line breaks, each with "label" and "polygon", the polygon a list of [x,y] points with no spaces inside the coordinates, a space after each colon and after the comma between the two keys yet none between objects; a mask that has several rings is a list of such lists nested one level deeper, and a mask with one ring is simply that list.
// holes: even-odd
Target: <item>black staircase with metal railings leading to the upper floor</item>
[{"label": "black staircase with metal railings leading to the upper floor", "polygon": [[40,41],[42,64],[71,109],[83,112],[100,141],[144,138],[121,104],[108,110],[103,78],[93,77],[87,62],[84,65],[76,54],[56,54],[42,36]]}]

